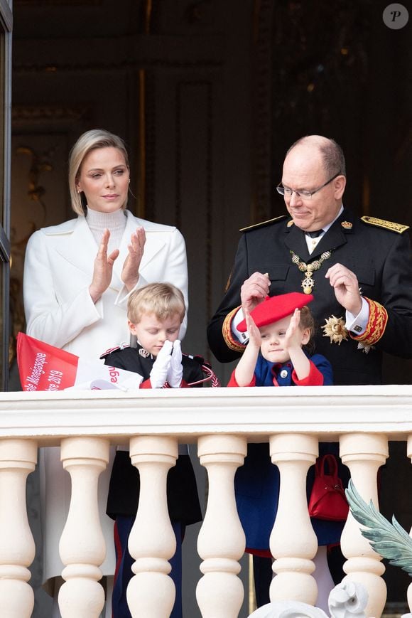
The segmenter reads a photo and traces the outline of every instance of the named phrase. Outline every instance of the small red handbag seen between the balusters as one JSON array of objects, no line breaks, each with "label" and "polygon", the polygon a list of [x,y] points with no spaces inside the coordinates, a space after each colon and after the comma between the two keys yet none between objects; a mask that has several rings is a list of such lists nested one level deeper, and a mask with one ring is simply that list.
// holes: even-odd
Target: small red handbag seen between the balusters
[{"label": "small red handbag seen between the balusters", "polygon": [[310,492],[308,510],[310,517],[318,519],[345,521],[347,518],[349,505],[342,480],[337,476],[335,455],[322,455],[316,460],[315,481]]}]

